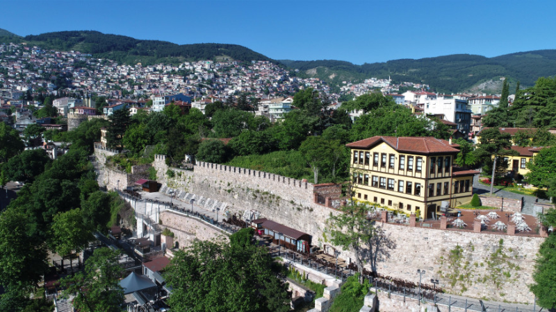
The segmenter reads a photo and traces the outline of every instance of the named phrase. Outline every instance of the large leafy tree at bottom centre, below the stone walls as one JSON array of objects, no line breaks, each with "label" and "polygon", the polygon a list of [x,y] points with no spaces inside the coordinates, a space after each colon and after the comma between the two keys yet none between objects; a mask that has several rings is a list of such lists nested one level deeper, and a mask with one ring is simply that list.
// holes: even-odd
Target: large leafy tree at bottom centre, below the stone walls
[{"label": "large leafy tree at bottom centre, below the stone walls", "polygon": [[232,245],[195,241],[176,252],[164,275],[172,285],[172,311],[289,311],[287,286],[274,260],[265,248],[247,244],[243,234],[233,234],[241,238],[231,237]]}]

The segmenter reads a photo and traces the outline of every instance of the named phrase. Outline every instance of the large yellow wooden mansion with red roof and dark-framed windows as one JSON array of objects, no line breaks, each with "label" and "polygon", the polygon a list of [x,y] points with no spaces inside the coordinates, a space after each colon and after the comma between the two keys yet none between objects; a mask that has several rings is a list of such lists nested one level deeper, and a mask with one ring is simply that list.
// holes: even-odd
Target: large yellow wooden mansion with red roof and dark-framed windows
[{"label": "large yellow wooden mansion with red roof and dark-framed windows", "polygon": [[370,137],[346,146],[354,197],[422,218],[471,202],[473,170],[452,166],[457,144],[434,137]]}]

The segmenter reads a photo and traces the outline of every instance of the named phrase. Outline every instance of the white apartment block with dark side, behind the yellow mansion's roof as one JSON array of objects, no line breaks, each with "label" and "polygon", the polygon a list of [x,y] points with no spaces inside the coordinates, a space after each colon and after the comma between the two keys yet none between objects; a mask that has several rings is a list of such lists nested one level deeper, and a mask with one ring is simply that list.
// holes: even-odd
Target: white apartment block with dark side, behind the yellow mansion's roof
[{"label": "white apartment block with dark side, behind the yellow mansion's roof", "polygon": [[457,124],[457,130],[468,135],[471,126],[471,109],[467,101],[451,95],[439,95],[434,100],[425,101],[425,114],[444,115],[444,120]]}]

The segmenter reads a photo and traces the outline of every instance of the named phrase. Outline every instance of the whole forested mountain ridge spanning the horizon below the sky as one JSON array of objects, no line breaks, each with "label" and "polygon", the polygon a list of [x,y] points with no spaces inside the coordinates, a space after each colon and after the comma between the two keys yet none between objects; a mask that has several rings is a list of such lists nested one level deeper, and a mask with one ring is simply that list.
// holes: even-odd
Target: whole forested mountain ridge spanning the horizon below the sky
[{"label": "whole forested mountain ridge spanning the horizon below the sky", "polygon": [[[542,76],[556,75],[556,50],[521,51],[487,58],[475,54],[441,55],[431,58],[389,60],[353,64],[341,60],[272,60],[237,44],[174,44],[160,40],[138,40],[124,35],[98,31],[61,31],[20,37],[0,28],[0,42],[27,42],[44,49],[81,51],[95,58],[108,58],[124,64],[177,64],[195,60],[231,59],[242,62],[268,60],[297,69],[297,76],[326,81],[334,91],[343,81],[361,83],[366,78],[391,78],[395,83],[411,82],[430,85],[436,92],[500,92],[505,77],[514,87],[517,81],[528,87]],[[495,82],[495,83],[489,83]],[[493,89],[478,89],[480,85]]]}]

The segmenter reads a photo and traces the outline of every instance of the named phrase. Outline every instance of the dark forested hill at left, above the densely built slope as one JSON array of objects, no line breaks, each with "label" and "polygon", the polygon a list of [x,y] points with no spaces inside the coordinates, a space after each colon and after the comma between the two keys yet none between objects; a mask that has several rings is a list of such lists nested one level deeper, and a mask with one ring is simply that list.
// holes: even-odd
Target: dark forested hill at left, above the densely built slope
[{"label": "dark forested hill at left, above the densely built slope", "polygon": [[[2,37],[0,42],[13,42],[13,36]],[[60,51],[80,51],[90,53],[95,58],[108,58],[120,63],[155,64],[158,62],[177,63],[186,60],[218,60],[229,58],[250,62],[270,60],[237,44],[174,44],[158,40],[138,40],[122,35],[109,35],[98,31],[60,31],[19,37],[20,42],[36,44],[44,49]]]}]

